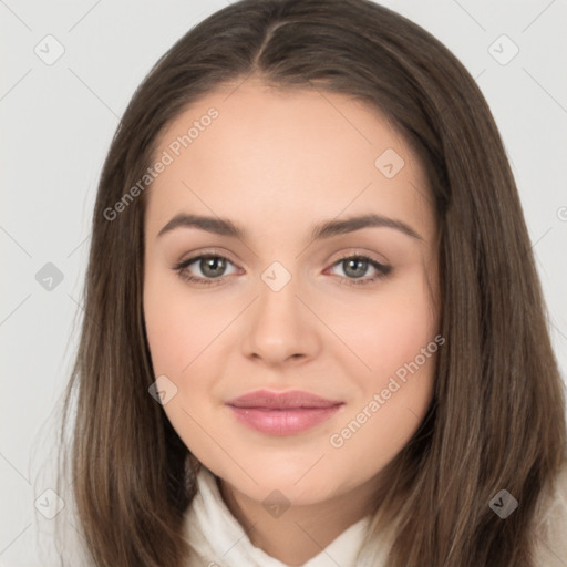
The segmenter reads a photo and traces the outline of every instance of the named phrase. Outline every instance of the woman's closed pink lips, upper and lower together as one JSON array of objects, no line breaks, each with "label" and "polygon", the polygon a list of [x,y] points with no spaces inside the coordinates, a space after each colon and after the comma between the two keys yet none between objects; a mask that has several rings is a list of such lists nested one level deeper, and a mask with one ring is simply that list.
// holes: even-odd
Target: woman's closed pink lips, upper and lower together
[{"label": "woman's closed pink lips, upper and lower together", "polygon": [[257,390],[226,402],[249,427],[269,435],[293,435],[328,420],[343,404],[299,390]]}]

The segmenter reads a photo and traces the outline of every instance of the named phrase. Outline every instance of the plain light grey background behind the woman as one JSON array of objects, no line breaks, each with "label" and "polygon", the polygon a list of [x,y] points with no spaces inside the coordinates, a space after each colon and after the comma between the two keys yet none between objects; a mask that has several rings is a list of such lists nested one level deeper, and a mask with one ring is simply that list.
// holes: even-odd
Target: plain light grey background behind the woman
[{"label": "plain light grey background behind the woman", "polygon": [[[82,313],[79,299],[90,219],[118,116],[158,56],[226,4],[225,0],[0,0],[1,566],[45,566],[38,559],[35,538],[52,520],[38,517],[34,501],[53,484],[38,472],[53,444],[51,412],[78,342],[73,321],[76,324]],[[477,80],[491,105],[519,188],[565,380],[567,2],[389,0],[383,4],[445,43]],[[43,56],[55,53],[53,40],[44,40],[48,34],[64,48],[51,65],[34,52],[39,45]],[[502,62],[514,48],[498,40],[502,34],[519,49],[506,64]],[[51,291],[35,279],[47,262],[63,274]]]}]

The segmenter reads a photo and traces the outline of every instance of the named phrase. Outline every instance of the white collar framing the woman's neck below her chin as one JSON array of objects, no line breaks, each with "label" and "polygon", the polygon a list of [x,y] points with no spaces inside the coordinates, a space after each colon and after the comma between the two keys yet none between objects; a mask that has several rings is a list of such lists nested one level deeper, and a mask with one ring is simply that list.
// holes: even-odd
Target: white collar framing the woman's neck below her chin
[{"label": "white collar framing the woman's neck below her chin", "polygon": [[[351,525],[303,567],[354,567],[369,525],[369,516]],[[288,567],[252,545],[223,501],[216,476],[204,465],[186,514],[185,534],[204,566]]]}]

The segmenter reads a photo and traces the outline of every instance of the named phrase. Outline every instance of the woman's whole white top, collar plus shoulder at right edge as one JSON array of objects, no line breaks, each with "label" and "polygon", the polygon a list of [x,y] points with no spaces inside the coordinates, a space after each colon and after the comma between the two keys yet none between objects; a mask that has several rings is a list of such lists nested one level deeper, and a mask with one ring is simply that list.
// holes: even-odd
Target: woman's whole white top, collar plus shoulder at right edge
[{"label": "woman's whole white top, collar plus shoulder at right edge", "polygon": [[[252,545],[223,501],[216,477],[205,466],[197,483],[198,492],[185,519],[186,537],[193,548],[188,567],[288,567]],[[567,467],[557,480],[553,497],[538,506],[536,565],[567,567]],[[357,522],[303,567],[385,567],[385,545],[378,547],[372,558],[358,556],[369,525],[369,517]]]}]

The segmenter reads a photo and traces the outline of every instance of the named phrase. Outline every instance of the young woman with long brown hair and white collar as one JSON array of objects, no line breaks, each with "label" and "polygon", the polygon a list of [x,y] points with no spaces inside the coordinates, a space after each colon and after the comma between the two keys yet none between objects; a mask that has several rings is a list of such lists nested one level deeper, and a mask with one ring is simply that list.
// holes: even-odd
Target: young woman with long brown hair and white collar
[{"label": "young woman with long brown hair and white collar", "polygon": [[61,481],[81,565],[567,565],[544,309],[437,40],[365,0],[216,12],[101,176]]}]

